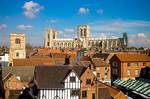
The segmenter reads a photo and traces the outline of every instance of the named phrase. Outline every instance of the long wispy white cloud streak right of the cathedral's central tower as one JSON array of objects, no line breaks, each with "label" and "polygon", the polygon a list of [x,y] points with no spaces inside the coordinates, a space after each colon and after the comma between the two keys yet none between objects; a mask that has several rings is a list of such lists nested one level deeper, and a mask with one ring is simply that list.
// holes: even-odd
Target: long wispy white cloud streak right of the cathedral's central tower
[{"label": "long wispy white cloud streak right of the cathedral's central tower", "polygon": [[141,28],[150,27],[150,21],[109,20],[90,23],[90,25],[92,30],[97,32],[139,32]]}]

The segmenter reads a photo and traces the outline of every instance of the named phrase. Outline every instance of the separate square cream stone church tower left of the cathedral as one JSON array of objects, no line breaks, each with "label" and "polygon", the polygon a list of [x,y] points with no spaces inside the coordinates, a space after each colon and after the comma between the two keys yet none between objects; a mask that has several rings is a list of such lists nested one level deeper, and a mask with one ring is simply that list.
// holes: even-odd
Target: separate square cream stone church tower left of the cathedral
[{"label": "separate square cream stone church tower left of the cathedral", "polygon": [[10,63],[12,63],[13,59],[26,58],[25,40],[25,34],[23,33],[10,34]]}]

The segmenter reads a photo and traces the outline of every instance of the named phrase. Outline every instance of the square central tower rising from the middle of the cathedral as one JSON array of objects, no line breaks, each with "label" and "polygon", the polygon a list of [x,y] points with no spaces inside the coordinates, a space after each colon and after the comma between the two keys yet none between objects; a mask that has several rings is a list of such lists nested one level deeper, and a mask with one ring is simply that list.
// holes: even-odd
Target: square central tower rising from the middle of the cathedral
[{"label": "square central tower rising from the middle of the cathedral", "polygon": [[77,37],[83,42],[83,48],[88,47],[88,40],[90,38],[90,26],[88,25],[79,25],[77,28]]}]

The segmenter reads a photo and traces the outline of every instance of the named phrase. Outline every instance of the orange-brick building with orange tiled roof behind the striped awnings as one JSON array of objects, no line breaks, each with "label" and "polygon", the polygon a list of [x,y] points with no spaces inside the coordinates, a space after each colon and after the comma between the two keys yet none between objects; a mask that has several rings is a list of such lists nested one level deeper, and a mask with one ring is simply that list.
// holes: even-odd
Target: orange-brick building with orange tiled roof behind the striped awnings
[{"label": "orange-brick building with orange tiled roof behind the striped awnings", "polygon": [[140,71],[150,66],[150,57],[142,54],[115,54],[110,59],[111,80],[128,80],[139,77]]}]

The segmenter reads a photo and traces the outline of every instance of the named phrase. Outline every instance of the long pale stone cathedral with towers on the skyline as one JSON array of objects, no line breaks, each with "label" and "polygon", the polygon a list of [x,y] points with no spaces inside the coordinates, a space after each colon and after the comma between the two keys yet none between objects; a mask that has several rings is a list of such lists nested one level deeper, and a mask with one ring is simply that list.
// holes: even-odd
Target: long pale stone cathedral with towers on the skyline
[{"label": "long pale stone cathedral with towers on the skyline", "polygon": [[79,25],[77,27],[77,38],[57,38],[58,31],[47,29],[45,34],[45,48],[100,48],[111,50],[115,48],[126,49],[128,45],[127,33],[123,33],[122,38],[92,38],[91,29],[88,25]]}]

